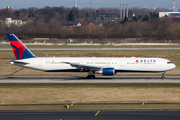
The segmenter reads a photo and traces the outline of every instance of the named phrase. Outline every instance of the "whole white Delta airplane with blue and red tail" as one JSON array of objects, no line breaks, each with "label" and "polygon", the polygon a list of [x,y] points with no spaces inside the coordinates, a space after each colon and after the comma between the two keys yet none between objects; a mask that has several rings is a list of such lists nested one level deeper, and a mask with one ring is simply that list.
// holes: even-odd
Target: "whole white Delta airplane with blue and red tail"
[{"label": "whole white Delta airplane with blue and red tail", "polygon": [[176,67],[163,58],[136,57],[37,57],[13,33],[7,34],[16,59],[11,64],[45,72],[88,72],[87,79],[95,74],[113,76],[118,72],[162,72]]}]

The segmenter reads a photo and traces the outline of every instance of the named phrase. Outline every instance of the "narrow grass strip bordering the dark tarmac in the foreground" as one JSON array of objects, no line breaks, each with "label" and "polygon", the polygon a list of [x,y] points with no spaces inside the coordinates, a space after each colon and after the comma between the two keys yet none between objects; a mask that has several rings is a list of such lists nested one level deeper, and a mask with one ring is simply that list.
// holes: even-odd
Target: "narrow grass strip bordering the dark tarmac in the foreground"
[{"label": "narrow grass strip bordering the dark tarmac in the foreground", "polygon": [[[64,106],[1,106],[0,110],[65,110]],[[180,109],[180,105],[81,105],[70,106],[70,110],[108,109]]]}]

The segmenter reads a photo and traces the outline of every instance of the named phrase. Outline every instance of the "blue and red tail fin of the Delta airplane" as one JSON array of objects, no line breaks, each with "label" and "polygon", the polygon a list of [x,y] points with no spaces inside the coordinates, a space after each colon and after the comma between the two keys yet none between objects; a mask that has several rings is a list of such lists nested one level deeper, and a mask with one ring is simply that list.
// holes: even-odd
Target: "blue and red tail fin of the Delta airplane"
[{"label": "blue and red tail fin of the Delta airplane", "polygon": [[14,34],[7,34],[17,60],[36,57]]}]

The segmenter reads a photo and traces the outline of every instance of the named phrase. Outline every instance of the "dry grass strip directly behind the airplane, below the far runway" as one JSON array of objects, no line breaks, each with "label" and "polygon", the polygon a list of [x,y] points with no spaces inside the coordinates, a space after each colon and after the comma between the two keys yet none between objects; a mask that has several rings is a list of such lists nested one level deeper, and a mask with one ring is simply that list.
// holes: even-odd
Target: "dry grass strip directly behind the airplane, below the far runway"
[{"label": "dry grass strip directly behind the airplane, below the far runway", "polygon": [[[38,57],[162,57],[169,59],[180,58],[180,50],[94,50],[94,51],[69,51],[69,50],[43,50],[32,52]],[[0,51],[0,60],[13,59],[12,51]]]}]

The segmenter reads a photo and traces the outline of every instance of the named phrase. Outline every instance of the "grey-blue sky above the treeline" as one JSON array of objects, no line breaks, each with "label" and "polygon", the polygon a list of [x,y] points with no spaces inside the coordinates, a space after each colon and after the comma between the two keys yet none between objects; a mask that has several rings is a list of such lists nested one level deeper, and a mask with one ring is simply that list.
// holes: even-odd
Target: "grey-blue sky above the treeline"
[{"label": "grey-blue sky above the treeline", "polygon": [[[128,4],[129,7],[146,8],[171,8],[173,0],[78,0],[78,7],[118,7],[120,4]],[[74,7],[75,0],[0,0],[0,9],[11,6],[13,9],[37,7]],[[176,0],[176,9],[180,8],[180,0]]]}]

